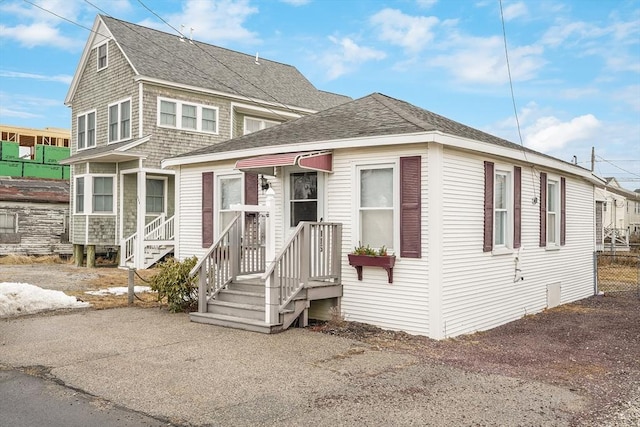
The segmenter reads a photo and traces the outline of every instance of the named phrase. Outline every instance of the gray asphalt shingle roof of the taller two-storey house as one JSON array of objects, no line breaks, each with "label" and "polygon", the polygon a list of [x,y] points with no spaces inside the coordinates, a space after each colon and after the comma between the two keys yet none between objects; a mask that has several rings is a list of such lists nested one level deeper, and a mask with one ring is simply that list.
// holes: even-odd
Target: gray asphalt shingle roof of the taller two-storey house
[{"label": "gray asphalt shingle roof of the taller two-storey house", "polygon": [[141,76],[230,93],[249,100],[324,110],[351,98],[316,89],[295,67],[121,21],[109,28]]}]

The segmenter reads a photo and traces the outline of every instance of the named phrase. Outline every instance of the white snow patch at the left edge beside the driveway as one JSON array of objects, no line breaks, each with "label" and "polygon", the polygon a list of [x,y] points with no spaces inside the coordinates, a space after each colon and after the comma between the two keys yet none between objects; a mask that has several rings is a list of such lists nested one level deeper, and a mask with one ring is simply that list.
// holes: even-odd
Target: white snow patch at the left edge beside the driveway
[{"label": "white snow patch at the left edge beside the driveway", "polygon": [[62,291],[42,289],[28,283],[0,283],[0,317],[61,308],[85,308],[89,305]]}]

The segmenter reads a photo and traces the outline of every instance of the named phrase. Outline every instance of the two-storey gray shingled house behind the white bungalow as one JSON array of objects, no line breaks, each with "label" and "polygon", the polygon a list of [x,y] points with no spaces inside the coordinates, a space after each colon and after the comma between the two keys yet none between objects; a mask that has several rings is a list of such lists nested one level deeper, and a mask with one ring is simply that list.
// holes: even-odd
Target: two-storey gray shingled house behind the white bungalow
[{"label": "two-storey gray shingled house behind the white bungalow", "polygon": [[290,65],[97,16],[65,100],[76,260],[115,247],[121,265],[146,268],[173,250],[179,188],[163,158],[347,100]]}]

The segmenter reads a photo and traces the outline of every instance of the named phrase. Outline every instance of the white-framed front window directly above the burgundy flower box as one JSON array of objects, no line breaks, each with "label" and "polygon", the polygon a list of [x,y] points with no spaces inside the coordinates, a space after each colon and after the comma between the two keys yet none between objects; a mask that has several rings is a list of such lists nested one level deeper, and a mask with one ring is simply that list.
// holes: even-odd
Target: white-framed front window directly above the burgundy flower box
[{"label": "white-framed front window directly above the burgundy flower box", "polygon": [[394,248],[395,179],[394,164],[359,166],[359,243],[372,248]]}]

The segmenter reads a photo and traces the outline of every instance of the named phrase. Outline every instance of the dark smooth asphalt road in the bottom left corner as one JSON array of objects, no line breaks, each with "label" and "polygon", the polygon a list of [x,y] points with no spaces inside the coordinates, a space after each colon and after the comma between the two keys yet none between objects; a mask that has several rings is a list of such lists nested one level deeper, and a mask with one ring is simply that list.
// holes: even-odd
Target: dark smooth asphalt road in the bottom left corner
[{"label": "dark smooth asphalt road in the bottom left corner", "polygon": [[0,370],[0,425],[11,427],[167,426],[54,381]]}]

